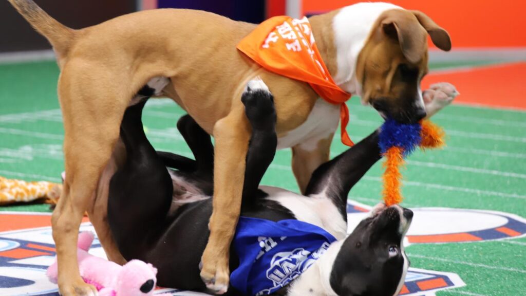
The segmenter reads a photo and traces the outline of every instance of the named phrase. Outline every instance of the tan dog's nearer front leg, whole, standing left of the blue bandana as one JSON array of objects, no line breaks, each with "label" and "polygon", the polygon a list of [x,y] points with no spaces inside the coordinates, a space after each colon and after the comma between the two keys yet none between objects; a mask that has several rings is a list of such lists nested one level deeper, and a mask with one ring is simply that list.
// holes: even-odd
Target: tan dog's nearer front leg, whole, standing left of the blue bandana
[{"label": "tan dog's nearer front leg, whole, standing left of the blue bandana", "polygon": [[218,294],[228,289],[230,242],[241,211],[250,134],[241,104],[214,125],[214,211],[208,224],[208,244],[201,258],[201,278],[208,289]]}]

